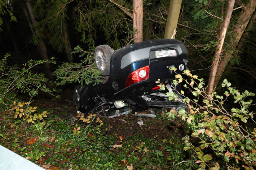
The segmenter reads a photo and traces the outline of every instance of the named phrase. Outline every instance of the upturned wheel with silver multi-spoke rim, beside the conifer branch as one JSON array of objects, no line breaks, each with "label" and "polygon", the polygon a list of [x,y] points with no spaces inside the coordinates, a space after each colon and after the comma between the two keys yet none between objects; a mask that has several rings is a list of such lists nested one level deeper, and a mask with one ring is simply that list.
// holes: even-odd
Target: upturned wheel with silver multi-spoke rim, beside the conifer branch
[{"label": "upturned wheel with silver multi-spoke rim, beside the conifer branch", "polygon": [[97,46],[94,52],[96,67],[101,71],[102,75],[109,75],[110,58],[114,50],[108,45]]}]

